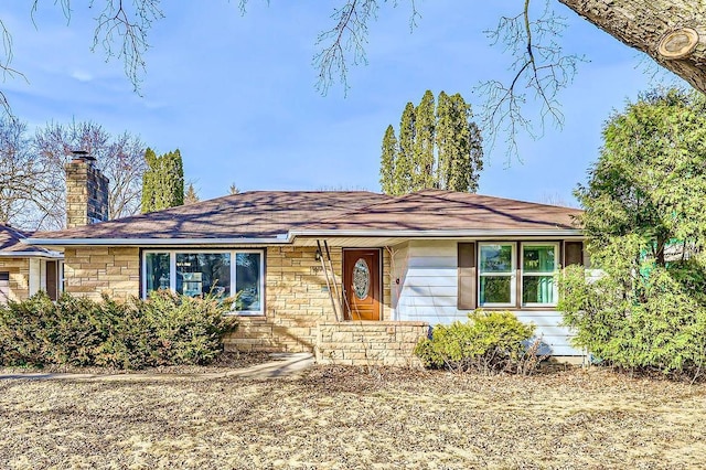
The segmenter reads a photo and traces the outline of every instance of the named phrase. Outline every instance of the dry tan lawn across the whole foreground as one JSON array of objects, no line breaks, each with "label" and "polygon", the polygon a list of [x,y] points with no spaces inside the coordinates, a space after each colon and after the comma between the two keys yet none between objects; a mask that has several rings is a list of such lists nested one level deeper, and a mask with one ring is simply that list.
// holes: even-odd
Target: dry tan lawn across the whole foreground
[{"label": "dry tan lawn across the whole foreground", "polygon": [[705,468],[706,385],[314,367],[0,381],[0,468]]}]

